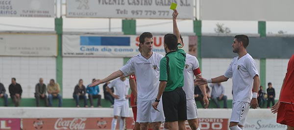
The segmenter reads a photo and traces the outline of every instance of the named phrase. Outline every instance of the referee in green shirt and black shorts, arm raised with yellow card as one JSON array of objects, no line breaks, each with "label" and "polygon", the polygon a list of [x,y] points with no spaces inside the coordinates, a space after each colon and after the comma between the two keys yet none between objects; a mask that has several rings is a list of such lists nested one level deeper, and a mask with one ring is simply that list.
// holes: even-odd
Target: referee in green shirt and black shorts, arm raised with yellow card
[{"label": "referee in green shirt and black shorts, arm raised with yellow card", "polygon": [[[177,15],[178,13],[175,10],[172,14],[173,19]],[[176,24],[176,22],[173,24]],[[183,70],[186,53],[182,49],[180,36],[166,34],[164,36],[164,49],[167,54],[160,61],[159,90],[152,107],[157,110],[162,95],[163,111],[167,123],[165,129],[185,130],[185,123],[182,122],[187,120],[187,105],[186,94],[182,87],[184,86]]]}]

